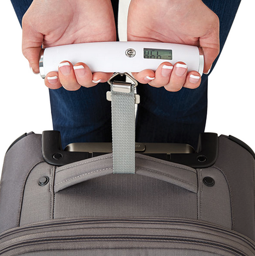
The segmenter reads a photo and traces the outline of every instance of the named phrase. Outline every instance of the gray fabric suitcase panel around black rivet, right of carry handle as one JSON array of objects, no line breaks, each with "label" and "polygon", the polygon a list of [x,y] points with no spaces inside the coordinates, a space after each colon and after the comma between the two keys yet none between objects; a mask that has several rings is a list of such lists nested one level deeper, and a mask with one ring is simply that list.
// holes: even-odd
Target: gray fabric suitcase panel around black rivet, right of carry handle
[{"label": "gray fabric suitcase panel around black rivet, right of carry handle", "polygon": [[[197,170],[199,173],[198,219],[232,229],[231,194],[222,172],[209,167]],[[211,177],[214,186],[206,186],[203,178]]]}]

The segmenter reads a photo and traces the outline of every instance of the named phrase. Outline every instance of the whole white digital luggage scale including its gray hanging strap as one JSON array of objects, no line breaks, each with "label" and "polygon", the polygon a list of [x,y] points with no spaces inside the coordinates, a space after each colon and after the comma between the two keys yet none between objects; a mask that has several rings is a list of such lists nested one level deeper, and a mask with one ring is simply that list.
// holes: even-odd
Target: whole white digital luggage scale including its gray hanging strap
[{"label": "whole white digital luggage scale including its gray hanging strap", "polygon": [[[126,72],[156,71],[163,62],[175,64],[183,61],[189,71],[203,73],[203,52],[196,46],[162,42],[93,42],[56,46],[43,49],[40,58],[42,78],[50,71],[58,71],[63,60],[72,64],[86,63],[93,72],[116,72],[109,79],[112,101],[112,154],[113,173],[135,173],[135,94],[137,81]],[[118,74],[131,82],[116,82]],[[100,86],[100,85],[99,85]]]}]

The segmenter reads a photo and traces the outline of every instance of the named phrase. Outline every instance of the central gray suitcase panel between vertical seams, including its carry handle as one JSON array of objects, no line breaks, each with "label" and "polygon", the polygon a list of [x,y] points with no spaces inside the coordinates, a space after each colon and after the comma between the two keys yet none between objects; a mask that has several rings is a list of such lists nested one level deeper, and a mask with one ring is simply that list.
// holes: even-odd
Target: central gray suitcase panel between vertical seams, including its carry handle
[{"label": "central gray suitcase panel between vertical seams, including its carry handle", "polygon": [[193,168],[136,154],[136,174],[110,173],[112,154],[57,167],[54,218],[197,218]]}]

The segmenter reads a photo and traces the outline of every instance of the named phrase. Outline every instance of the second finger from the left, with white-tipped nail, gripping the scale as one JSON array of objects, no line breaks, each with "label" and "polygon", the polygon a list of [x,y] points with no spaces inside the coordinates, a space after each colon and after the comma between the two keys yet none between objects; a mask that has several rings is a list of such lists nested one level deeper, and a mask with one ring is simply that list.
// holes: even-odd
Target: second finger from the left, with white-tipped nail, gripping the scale
[{"label": "second finger from the left, with white-tipped nail, gripping the scale", "polygon": [[80,89],[80,84],[77,82],[73,65],[69,61],[62,61],[59,64],[59,80],[63,88],[68,91],[76,91]]}]

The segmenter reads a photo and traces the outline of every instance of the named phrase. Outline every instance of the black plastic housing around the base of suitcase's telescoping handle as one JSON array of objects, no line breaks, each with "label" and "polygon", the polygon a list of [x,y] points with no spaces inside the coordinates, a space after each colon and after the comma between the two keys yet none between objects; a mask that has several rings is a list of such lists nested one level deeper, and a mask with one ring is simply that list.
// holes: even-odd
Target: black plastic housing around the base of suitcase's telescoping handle
[{"label": "black plastic housing around the base of suitcase's telescoping handle", "polygon": [[[146,143],[145,143],[146,145]],[[50,165],[62,166],[76,161],[107,154],[109,152],[89,153],[89,152],[69,152],[64,151],[61,146],[60,132],[55,130],[44,131],[42,133],[42,155],[43,159]],[[183,154],[142,154],[160,158],[193,168],[205,168],[212,166],[218,156],[218,135],[216,133],[202,133],[199,136],[197,150],[194,153]]]}]

